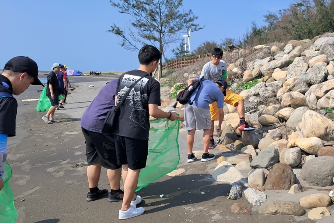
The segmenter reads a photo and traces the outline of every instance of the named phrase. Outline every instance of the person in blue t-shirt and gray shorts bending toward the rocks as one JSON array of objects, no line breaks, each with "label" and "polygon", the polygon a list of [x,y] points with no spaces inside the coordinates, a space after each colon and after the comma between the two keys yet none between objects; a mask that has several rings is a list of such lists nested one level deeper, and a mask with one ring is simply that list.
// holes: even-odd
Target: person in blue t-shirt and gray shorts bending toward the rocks
[{"label": "person in blue t-shirt and gray shorts bending toward the rocks", "polygon": [[[199,80],[192,78],[188,80],[188,86]],[[194,162],[195,154],[192,152],[192,147],[195,140],[196,130],[203,130],[203,155],[202,162],[214,159],[214,155],[208,152],[210,143],[211,131],[211,115],[209,105],[213,102],[217,103],[219,124],[217,131],[221,130],[221,123],[224,120],[224,97],[226,96],[227,83],[219,80],[213,83],[209,80],[202,81],[202,85],[192,93],[189,103],[184,106],[185,131],[187,134],[188,146],[188,162]]]}]

